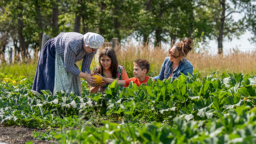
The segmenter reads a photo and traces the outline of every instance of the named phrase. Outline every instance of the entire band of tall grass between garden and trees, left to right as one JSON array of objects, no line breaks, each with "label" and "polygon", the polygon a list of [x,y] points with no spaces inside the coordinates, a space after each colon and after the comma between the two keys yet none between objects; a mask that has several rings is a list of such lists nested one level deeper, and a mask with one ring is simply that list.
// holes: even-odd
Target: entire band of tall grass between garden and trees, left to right
[{"label": "entire band of tall grass between garden and trees, left to right", "polygon": [[[91,70],[98,65],[98,50],[91,64]],[[119,64],[122,64],[129,78],[133,77],[133,61],[137,58],[145,58],[150,62],[149,76],[157,76],[160,72],[164,58],[168,56],[168,48],[153,48],[151,46],[135,46],[128,44],[116,48]],[[194,70],[198,70],[202,77],[208,76],[213,72],[222,74],[226,72],[236,72],[243,74],[256,75],[256,51],[239,52],[237,50],[230,51],[225,56],[211,54],[210,52],[190,52],[188,60],[193,64]],[[10,75],[14,77],[25,76],[31,80],[34,79],[36,72],[37,59],[31,59],[28,62],[19,62],[14,64],[0,64],[0,73],[2,75]],[[81,63],[77,62],[81,67]]]}]

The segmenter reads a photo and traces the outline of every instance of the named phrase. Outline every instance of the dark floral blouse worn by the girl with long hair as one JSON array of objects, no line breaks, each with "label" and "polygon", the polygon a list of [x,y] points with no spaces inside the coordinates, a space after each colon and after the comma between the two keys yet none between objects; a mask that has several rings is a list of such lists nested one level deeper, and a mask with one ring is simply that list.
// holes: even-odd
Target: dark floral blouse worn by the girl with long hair
[{"label": "dark floral blouse worn by the girl with long hair", "polygon": [[[95,66],[94,69],[92,70],[93,72],[97,72],[98,71],[99,66]],[[117,67],[117,74],[116,74],[116,78],[113,78],[112,76],[110,78],[112,79],[116,79],[116,80],[122,80],[123,78],[123,72],[125,71],[124,66],[118,65]],[[105,74],[102,74],[103,77],[106,78]],[[98,92],[100,93],[104,93],[105,89],[108,87],[109,83],[106,83],[104,86],[100,86]]]}]

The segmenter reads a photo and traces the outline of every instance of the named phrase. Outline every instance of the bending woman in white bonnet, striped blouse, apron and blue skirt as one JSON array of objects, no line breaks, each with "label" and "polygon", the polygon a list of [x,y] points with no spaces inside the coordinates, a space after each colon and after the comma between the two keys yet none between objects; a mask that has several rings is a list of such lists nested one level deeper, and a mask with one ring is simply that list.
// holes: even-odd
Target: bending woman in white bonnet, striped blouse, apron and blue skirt
[{"label": "bending woman in white bonnet, striped blouse, apron and blue skirt", "polygon": [[[104,38],[93,32],[84,35],[62,32],[48,40],[38,60],[32,90],[41,94],[41,90],[50,90],[53,94],[59,90],[68,93],[74,91],[81,96],[80,78],[86,79],[90,86],[97,86],[90,64],[103,42]],[[76,62],[82,59],[80,71]]]}]

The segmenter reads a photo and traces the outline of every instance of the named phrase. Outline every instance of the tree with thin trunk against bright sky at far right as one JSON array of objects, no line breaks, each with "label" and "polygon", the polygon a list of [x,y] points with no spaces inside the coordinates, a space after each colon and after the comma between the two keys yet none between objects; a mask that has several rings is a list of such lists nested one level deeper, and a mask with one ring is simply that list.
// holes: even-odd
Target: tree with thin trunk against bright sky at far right
[{"label": "tree with thin trunk against bright sky at far right", "polygon": [[[205,0],[204,6],[211,14],[209,14],[209,24],[212,28],[212,36],[218,41],[218,54],[223,53],[223,40],[236,37],[244,33],[246,30],[246,12],[248,7],[255,0]],[[232,14],[240,14],[243,17],[236,20]]]}]

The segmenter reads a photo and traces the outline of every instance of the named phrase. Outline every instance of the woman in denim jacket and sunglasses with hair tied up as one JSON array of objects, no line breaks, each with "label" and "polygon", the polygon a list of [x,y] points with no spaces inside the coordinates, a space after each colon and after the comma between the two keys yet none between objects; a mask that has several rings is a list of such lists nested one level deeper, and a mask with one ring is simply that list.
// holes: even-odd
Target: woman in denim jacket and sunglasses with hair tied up
[{"label": "woman in denim jacket and sunglasses with hair tied up", "polygon": [[191,39],[180,39],[178,43],[172,46],[172,48],[169,49],[169,56],[165,58],[164,63],[162,64],[160,74],[154,77],[154,79],[164,80],[172,78],[172,80],[174,80],[175,78],[178,78],[181,73],[186,76],[188,73],[193,75],[193,66],[186,59],[188,52],[192,50],[192,45],[193,41]]}]

